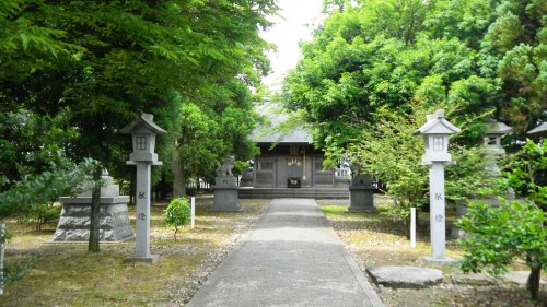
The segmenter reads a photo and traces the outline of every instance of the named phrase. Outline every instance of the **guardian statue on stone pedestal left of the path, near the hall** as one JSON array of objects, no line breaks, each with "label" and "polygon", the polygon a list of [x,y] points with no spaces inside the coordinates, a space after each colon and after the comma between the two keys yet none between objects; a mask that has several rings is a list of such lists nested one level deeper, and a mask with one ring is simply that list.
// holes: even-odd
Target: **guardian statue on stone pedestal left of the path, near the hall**
[{"label": "guardian statue on stone pedestal left of the path, near the hall", "polygon": [[217,178],[214,178],[214,202],[211,211],[243,211],[237,203],[237,181],[232,174],[235,158],[226,157],[224,164],[217,162]]}]

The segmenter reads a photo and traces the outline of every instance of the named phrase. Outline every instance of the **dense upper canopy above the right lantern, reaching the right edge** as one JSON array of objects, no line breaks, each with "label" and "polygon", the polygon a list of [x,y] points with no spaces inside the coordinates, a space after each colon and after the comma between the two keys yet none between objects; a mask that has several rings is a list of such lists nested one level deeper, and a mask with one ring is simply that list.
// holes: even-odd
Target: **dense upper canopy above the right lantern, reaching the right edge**
[{"label": "dense upper canopy above the right lantern, reaching the right edge", "polygon": [[466,144],[481,142],[485,118],[523,133],[545,117],[545,1],[325,2],[283,91],[321,146],[347,147],[380,107],[444,107]]}]

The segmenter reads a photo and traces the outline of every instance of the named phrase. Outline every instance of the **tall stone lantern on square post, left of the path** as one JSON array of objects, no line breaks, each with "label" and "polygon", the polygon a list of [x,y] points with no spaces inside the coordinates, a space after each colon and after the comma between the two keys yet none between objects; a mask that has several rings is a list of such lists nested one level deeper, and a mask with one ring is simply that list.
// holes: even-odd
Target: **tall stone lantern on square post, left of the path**
[{"label": "tall stone lantern on square post, left of the path", "polygon": [[121,133],[131,134],[133,152],[129,155],[128,165],[137,166],[137,221],[135,257],[128,262],[158,262],[158,255],[150,255],[150,193],[151,193],[151,165],[161,165],[158,154],[154,153],[155,137],[166,131],[153,121],[151,114],[143,113],[141,118],[120,130]]}]

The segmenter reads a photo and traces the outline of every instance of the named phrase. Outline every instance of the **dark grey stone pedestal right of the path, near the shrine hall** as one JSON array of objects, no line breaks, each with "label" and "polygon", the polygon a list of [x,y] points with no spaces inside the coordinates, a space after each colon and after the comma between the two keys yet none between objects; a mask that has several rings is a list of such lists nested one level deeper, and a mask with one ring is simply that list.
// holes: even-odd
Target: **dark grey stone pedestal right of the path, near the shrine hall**
[{"label": "dark grey stone pedestal right of the path, near the shrine hall", "polygon": [[369,174],[358,174],[349,186],[349,206],[346,212],[376,212],[374,186]]}]

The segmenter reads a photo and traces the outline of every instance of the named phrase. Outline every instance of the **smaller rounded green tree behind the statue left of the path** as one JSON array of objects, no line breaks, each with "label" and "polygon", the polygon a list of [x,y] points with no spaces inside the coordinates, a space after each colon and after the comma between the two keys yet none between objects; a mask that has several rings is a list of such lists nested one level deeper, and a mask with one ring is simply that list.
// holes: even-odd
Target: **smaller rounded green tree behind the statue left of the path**
[{"label": "smaller rounded green tree behind the statue left of the path", "polygon": [[214,178],[217,162],[223,163],[229,155],[240,161],[255,156],[256,146],[247,138],[255,127],[254,97],[241,84],[237,86],[240,95],[231,99],[211,97],[207,104],[188,102],[183,105],[182,130],[173,165],[174,196],[185,194],[190,178]]}]

